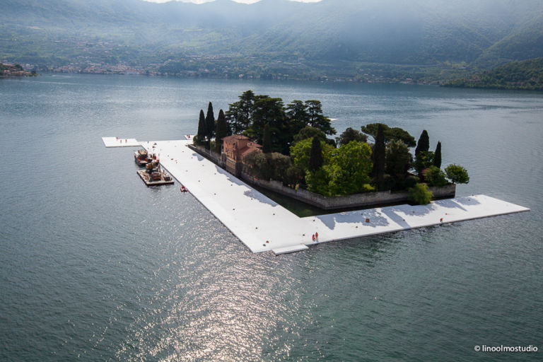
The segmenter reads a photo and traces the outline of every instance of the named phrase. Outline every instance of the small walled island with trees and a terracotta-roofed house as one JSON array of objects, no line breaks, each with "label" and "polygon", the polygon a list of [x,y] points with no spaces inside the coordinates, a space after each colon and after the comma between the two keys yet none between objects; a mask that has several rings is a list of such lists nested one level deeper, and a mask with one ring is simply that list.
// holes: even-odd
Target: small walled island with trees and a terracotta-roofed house
[{"label": "small walled island with trees and a terracotta-roofed house", "polygon": [[[245,91],[214,117],[200,111],[194,149],[243,180],[322,209],[454,197],[469,182],[460,165],[441,169],[441,143],[428,132],[373,123],[335,139],[319,100],[293,100]],[[371,140],[371,141],[369,141]],[[415,148],[414,154],[410,148]]]}]

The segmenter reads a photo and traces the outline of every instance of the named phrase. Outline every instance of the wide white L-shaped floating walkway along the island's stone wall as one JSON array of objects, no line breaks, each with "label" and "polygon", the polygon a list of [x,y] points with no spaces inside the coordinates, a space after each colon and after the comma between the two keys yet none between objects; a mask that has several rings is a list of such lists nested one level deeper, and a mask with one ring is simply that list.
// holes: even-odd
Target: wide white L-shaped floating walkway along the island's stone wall
[{"label": "wide white L-shaped floating walkway along the island's stone wall", "polygon": [[157,153],[163,168],[252,252],[272,250],[281,254],[304,250],[307,245],[317,243],[312,239],[314,233],[318,233],[319,243],[325,243],[529,210],[477,195],[439,200],[424,206],[387,206],[299,218],[192,151],[187,147],[191,143],[188,140],[151,141],[141,142],[141,146]]}]

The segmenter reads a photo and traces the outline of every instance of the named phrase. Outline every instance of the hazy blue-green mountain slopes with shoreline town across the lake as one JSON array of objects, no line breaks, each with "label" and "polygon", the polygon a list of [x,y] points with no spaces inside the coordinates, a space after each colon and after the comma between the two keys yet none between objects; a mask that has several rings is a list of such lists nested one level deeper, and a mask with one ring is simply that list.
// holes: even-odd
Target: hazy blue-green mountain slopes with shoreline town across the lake
[{"label": "hazy blue-green mountain slopes with shoreline town across the lake", "polygon": [[448,78],[534,57],[540,0],[4,0],[0,13],[0,60],[39,66]]}]

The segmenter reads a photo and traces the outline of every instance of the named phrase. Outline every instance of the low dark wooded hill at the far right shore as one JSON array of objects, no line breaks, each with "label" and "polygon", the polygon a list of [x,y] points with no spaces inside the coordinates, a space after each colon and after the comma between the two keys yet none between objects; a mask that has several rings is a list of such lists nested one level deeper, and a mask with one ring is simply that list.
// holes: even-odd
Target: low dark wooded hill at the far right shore
[{"label": "low dark wooded hill at the far right shore", "polygon": [[543,91],[543,58],[511,62],[443,86]]}]

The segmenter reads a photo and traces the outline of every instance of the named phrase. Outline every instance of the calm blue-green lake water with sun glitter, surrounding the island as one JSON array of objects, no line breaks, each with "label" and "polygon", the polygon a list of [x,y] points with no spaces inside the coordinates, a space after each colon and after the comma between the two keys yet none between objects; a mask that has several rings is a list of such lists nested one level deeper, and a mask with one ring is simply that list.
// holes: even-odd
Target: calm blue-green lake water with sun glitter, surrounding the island
[{"label": "calm blue-green lake water with sun glitter, surrounding the island", "polygon": [[[386,122],[532,211],[254,255],[132,148],[243,91]],[[142,76],[0,80],[0,361],[541,361],[543,94]],[[476,345],[535,345],[484,354]]]}]

